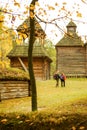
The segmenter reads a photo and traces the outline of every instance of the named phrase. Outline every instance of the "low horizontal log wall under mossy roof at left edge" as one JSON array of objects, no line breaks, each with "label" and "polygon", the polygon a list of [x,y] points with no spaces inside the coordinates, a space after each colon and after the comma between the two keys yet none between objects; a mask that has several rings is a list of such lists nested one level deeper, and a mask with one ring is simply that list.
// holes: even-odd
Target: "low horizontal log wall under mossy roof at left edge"
[{"label": "low horizontal log wall under mossy roof at left edge", "polygon": [[3,99],[27,97],[31,95],[28,81],[0,81],[0,96]]}]

